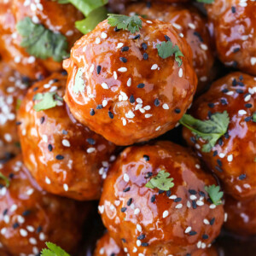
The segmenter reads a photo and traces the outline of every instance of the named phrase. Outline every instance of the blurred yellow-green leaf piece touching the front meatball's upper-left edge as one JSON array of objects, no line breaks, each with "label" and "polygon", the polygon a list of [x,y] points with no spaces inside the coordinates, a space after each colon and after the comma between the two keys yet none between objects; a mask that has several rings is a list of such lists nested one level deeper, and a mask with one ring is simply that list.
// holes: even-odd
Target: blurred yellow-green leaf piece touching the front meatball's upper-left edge
[{"label": "blurred yellow-green leaf piece touching the front meatball's upper-left edge", "polygon": [[83,34],[87,34],[94,30],[94,28],[102,22],[102,20],[107,19],[108,11],[104,7],[99,7],[94,9],[90,14],[84,19],[76,21],[75,26]]}]

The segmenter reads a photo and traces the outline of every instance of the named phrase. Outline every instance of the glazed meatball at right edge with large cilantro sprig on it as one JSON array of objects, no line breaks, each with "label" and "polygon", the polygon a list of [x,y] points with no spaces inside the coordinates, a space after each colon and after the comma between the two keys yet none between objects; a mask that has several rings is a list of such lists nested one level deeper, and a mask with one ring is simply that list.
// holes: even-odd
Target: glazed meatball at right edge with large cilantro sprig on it
[{"label": "glazed meatball at right edge with large cilantro sprig on it", "polygon": [[224,111],[229,114],[227,132],[210,152],[202,150],[205,140],[196,140],[187,128],[183,130],[187,143],[224,183],[224,191],[238,200],[256,195],[255,92],[255,78],[237,72],[218,79],[195,100],[190,113],[196,119],[209,119]]}]

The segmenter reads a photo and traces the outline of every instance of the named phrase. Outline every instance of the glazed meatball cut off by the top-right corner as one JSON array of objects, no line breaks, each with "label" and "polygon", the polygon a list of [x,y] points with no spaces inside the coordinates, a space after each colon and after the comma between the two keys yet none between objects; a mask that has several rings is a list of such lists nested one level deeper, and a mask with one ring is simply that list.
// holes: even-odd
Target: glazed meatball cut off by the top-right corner
[{"label": "glazed meatball cut off by the top-right corner", "polygon": [[256,75],[256,2],[215,0],[206,6],[218,58],[228,67]]}]

